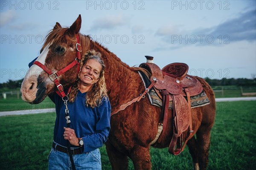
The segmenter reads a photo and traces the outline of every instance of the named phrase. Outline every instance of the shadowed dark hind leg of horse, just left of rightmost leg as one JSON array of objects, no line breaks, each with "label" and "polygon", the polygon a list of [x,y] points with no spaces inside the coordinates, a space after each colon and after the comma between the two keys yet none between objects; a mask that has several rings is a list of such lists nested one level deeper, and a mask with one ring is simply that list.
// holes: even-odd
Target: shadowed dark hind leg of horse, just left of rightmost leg
[{"label": "shadowed dark hind leg of horse, just left of rightmost leg", "polygon": [[198,149],[197,149],[197,142],[196,142],[195,136],[189,139],[187,146],[189,147],[189,153],[192,156],[192,160],[194,163],[194,170],[199,170]]}]

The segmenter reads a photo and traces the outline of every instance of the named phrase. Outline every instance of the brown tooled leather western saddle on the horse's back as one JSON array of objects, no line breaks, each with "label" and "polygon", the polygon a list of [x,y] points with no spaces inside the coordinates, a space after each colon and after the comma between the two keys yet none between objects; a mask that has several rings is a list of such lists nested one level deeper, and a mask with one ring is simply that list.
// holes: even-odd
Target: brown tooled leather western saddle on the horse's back
[{"label": "brown tooled leather western saddle on the horse's back", "polygon": [[[153,57],[145,57],[147,58],[147,62],[140,64],[139,67],[151,73],[149,79],[151,82],[155,82],[153,86],[154,91],[163,100],[159,120],[159,122],[163,122],[162,133],[165,133],[168,124],[169,101],[173,102],[173,136],[169,145],[169,153],[178,155],[185,148],[188,139],[192,137],[190,96],[200,94],[203,91],[203,87],[195,77],[187,74],[189,67],[185,63],[172,63],[166,65],[161,70],[152,62]],[[183,138],[183,135],[186,135],[186,137]],[[184,143],[183,139],[185,139]]]}]

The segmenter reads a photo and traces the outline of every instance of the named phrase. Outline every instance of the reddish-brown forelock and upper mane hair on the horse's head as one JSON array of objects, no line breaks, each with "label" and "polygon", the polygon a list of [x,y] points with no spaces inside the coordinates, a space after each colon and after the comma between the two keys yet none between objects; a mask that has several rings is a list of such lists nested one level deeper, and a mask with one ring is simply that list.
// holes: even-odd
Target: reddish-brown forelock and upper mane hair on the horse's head
[{"label": "reddish-brown forelock and upper mane hair on the horse's head", "polygon": [[[52,42],[53,45],[57,45],[59,43],[67,43],[67,39],[70,39],[72,36],[74,36],[74,35],[71,35],[68,30],[69,28],[67,27],[67,28],[53,28],[51,31],[49,31],[49,33],[46,36],[44,45],[41,48],[40,53],[44,50],[47,44],[52,42],[52,40],[53,40]],[[89,49],[90,40],[91,40],[90,36],[79,33],[79,41],[80,41],[79,43],[81,44],[82,56]]]}]

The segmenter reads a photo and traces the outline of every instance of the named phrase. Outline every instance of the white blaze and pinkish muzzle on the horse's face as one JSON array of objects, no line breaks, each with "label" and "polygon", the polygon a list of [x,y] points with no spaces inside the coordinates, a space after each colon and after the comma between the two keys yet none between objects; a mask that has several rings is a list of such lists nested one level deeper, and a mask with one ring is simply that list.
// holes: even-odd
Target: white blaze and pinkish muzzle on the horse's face
[{"label": "white blaze and pinkish muzzle on the horse's face", "polygon": [[[43,65],[45,64],[45,59],[49,52],[49,46],[52,43],[48,44],[44,50],[41,52],[36,61],[41,62]],[[22,93],[22,99],[25,102],[33,102],[36,98],[37,89],[37,79],[38,76],[44,71],[38,65],[32,65],[26,73],[24,80],[21,84],[20,92]]]}]

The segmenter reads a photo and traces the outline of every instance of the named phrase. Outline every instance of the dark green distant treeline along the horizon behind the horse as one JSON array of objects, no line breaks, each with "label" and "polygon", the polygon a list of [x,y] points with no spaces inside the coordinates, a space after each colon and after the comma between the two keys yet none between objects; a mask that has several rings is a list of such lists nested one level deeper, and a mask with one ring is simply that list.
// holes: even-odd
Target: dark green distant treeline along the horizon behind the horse
[{"label": "dark green distant treeline along the horizon behind the horse", "polygon": [[[211,86],[225,86],[225,85],[234,85],[234,86],[256,86],[256,78],[254,79],[246,79],[246,78],[239,78],[239,79],[210,79],[205,78],[205,80],[209,83]],[[0,83],[0,91],[3,89],[16,89],[20,88],[21,83],[23,79],[20,80],[8,80],[7,82]]]}]

